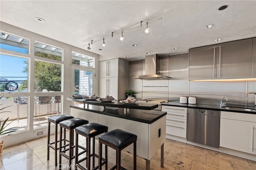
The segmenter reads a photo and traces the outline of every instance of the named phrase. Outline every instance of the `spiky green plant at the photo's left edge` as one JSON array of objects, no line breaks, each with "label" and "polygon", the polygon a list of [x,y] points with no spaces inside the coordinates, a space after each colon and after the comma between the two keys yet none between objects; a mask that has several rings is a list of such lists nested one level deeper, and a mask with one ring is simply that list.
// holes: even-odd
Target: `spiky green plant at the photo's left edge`
[{"label": "spiky green plant at the photo's left edge", "polygon": [[[4,94],[0,94],[0,100],[2,99],[3,96],[4,96]],[[0,104],[0,106],[2,106],[2,104]],[[10,106],[1,107],[1,108],[0,108],[0,113],[10,112],[10,111],[3,111],[3,110],[4,110],[5,108],[7,108],[7,107],[10,107]],[[14,120],[16,120],[17,118],[14,119],[13,121],[11,121],[10,123],[6,124],[7,121],[8,121],[8,119],[9,119],[9,117],[6,118],[6,119],[3,121],[3,123],[2,123],[2,118],[0,119],[0,136],[5,135],[5,134],[8,134],[8,133],[12,133],[12,132],[14,132],[14,131],[18,131],[18,129],[15,129],[16,127],[11,127],[11,128],[9,128],[9,129],[6,129],[6,127],[7,127],[8,125],[10,125],[10,123],[12,123],[12,122],[13,122]],[[1,155],[2,152],[3,152],[3,148],[4,148],[3,145],[4,145],[4,140],[0,142],[0,155]]]}]

